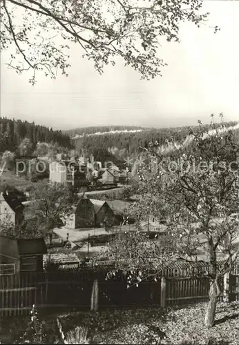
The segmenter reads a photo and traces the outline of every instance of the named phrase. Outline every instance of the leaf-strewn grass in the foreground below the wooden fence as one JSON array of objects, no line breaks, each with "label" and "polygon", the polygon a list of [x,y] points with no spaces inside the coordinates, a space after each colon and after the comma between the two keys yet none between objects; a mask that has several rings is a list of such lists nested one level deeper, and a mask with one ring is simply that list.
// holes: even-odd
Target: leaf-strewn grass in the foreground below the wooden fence
[{"label": "leaf-strewn grass in the foreground below the wooden fence", "polygon": [[[218,303],[215,326],[204,327],[207,303],[174,307],[43,315],[48,344],[61,343],[59,317],[69,344],[239,344],[239,302]],[[40,313],[39,313],[40,315]],[[16,344],[28,317],[3,319],[0,342]],[[10,330],[10,331],[9,331]]]}]

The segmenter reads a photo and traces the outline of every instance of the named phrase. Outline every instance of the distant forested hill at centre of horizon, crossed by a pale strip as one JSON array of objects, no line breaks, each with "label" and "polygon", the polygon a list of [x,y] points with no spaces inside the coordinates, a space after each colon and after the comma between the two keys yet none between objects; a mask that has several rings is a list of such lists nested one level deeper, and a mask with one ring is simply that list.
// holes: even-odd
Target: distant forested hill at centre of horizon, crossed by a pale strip
[{"label": "distant forested hill at centre of horizon, crossed by a pale strip", "polygon": [[[235,126],[236,122],[227,122],[224,125],[227,127]],[[208,128],[209,125],[204,127]],[[198,130],[198,126],[195,126],[194,129]],[[117,129],[114,127],[94,127],[81,128],[81,130],[72,132],[73,137],[75,137],[75,147],[78,150],[84,149],[95,155],[97,155],[97,150],[110,150],[111,152],[117,152],[117,154],[122,152],[123,157],[124,155],[137,154],[140,152],[140,147],[147,147],[150,141],[157,141],[158,144],[164,145],[167,140],[173,137],[174,141],[182,143],[189,135],[189,128],[187,127],[135,128],[133,130],[133,127],[117,126]],[[239,137],[239,130],[236,132]]]}]

